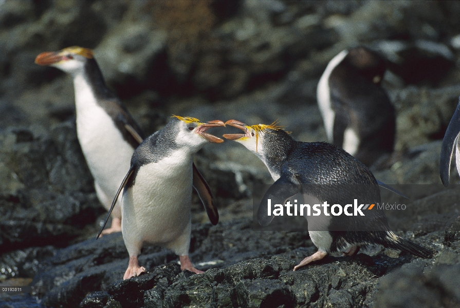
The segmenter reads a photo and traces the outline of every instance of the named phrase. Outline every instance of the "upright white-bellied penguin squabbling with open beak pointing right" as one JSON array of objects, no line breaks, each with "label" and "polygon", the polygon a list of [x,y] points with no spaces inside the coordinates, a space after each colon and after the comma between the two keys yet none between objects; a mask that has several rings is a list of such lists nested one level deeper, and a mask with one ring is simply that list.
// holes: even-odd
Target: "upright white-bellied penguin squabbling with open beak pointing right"
[{"label": "upright white-bellied penguin squabbling with open beak pointing right", "polygon": [[122,191],[121,228],[130,255],[123,279],[145,271],[137,258],[143,244],[170,248],[179,256],[182,270],[203,273],[193,267],[188,256],[192,187],[212,224],[217,224],[219,216],[209,186],[193,164],[193,155],[207,142],[223,142],[206,130],[224,126],[224,122],[174,117],[134,151],[131,167],[112,203],[113,208]]}]

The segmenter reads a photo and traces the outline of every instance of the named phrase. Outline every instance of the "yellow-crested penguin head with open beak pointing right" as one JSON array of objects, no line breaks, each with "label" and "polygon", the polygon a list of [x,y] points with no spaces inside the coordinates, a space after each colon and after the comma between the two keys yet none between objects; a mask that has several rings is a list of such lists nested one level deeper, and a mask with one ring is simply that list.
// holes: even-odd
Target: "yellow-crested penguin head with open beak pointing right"
[{"label": "yellow-crested penguin head with open beak pointing right", "polygon": [[224,140],[213,136],[206,131],[212,127],[225,126],[223,121],[214,120],[201,122],[191,117],[180,117],[173,115],[175,121],[172,123],[176,129],[176,144],[189,148],[200,148],[207,142],[221,143]]}]

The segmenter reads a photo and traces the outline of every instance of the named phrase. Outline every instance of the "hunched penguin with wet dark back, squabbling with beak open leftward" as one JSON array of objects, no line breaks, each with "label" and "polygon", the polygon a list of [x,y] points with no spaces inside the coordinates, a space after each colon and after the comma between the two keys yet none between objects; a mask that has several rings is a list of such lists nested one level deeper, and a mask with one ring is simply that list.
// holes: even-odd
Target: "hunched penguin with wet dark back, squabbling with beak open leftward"
[{"label": "hunched penguin with wet dark back, squabbling with beak open leftward", "polygon": [[[360,201],[363,200],[360,198],[370,197],[371,202],[380,202],[379,182],[369,168],[343,149],[325,142],[298,142],[279,126],[249,126],[236,120],[229,120],[225,124],[240,128],[244,133],[225,134],[224,138],[243,144],[259,157],[275,181],[267,190],[257,212],[261,225],[266,226],[273,219],[272,215],[267,215],[268,199],[272,204],[285,204],[288,198],[299,192],[306,198],[313,197],[331,205],[345,205],[353,202],[353,199],[349,199],[353,197]],[[358,189],[345,191],[350,185]],[[331,187],[338,188],[337,194],[332,193]],[[360,191],[363,187],[365,189]],[[344,192],[347,196],[342,196]],[[323,229],[315,228],[318,220],[307,217],[308,232],[318,252],[305,258],[294,271],[329,253],[354,255],[360,246],[370,244],[400,249],[421,258],[432,257],[433,253],[428,249],[395,235],[381,210],[366,211],[365,218],[343,215],[325,217],[327,221]]]}]

